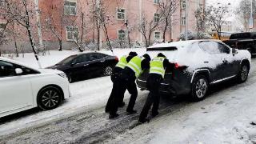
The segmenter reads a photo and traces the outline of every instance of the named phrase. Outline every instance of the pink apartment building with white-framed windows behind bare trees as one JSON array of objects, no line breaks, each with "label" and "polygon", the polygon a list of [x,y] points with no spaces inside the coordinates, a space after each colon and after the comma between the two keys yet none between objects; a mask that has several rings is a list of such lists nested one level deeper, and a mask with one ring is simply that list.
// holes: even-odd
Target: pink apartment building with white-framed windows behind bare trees
[{"label": "pink apartment building with white-framed windows behind bare trees", "polygon": [[[158,5],[162,1],[166,0],[38,0],[42,41],[55,49],[61,41],[63,48],[69,49],[75,46],[74,39],[97,42],[99,38],[104,44],[107,32],[111,42],[129,37],[133,45],[143,43],[145,38],[139,32],[138,26],[143,18],[147,18],[148,22],[159,21]],[[198,8],[204,10],[206,0],[187,2],[176,1],[177,10],[172,17],[172,30],[166,31],[166,41],[178,41],[179,35],[186,30],[186,23],[189,31],[196,30],[194,11]],[[106,27],[101,26],[98,31],[94,14],[98,14],[96,11],[99,7],[104,11]],[[35,25],[34,29],[36,28]],[[162,34],[162,28],[156,28],[152,31],[150,42],[161,42]],[[38,34],[34,34],[34,39],[38,42]]]}]

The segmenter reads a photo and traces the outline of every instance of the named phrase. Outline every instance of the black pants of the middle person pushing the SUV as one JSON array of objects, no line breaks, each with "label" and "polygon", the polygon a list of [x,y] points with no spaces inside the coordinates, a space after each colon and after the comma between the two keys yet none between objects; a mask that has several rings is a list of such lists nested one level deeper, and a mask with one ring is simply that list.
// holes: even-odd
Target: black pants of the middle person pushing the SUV
[{"label": "black pants of the middle person pushing the SUV", "polygon": [[134,110],[134,105],[138,97],[138,90],[135,83],[136,77],[134,76],[135,74],[132,72],[127,70],[127,72],[125,71],[120,75],[120,78],[118,79],[118,82],[117,82],[118,90],[114,92],[114,98],[113,98],[113,101],[111,102],[110,114],[117,113],[118,103],[123,101],[126,90],[128,90],[129,93],[131,94],[130,101],[126,111]]}]

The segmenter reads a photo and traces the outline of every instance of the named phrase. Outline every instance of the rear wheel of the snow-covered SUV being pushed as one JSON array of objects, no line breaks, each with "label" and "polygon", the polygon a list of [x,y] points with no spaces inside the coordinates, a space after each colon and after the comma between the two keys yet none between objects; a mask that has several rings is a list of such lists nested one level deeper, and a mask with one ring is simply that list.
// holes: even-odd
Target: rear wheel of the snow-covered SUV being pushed
[{"label": "rear wheel of the snow-covered SUV being pushed", "polygon": [[206,97],[209,90],[209,82],[203,75],[198,75],[194,78],[192,82],[192,99],[194,101],[200,101]]}]

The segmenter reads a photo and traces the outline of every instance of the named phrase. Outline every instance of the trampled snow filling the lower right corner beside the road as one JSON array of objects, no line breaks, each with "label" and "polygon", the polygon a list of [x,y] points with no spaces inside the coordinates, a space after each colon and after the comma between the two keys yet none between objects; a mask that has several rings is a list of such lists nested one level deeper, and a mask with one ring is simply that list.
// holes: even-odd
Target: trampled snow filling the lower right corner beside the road
[{"label": "trampled snow filling the lower right corner beside the road", "polygon": [[110,143],[255,143],[255,64],[246,83],[218,90],[202,102],[174,106],[169,114],[128,130]]}]

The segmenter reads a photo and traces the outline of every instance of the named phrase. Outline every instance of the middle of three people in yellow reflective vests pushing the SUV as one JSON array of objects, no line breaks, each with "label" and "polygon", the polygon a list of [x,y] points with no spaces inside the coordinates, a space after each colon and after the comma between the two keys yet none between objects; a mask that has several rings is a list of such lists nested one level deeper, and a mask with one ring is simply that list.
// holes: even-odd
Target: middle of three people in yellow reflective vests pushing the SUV
[{"label": "middle of three people in yellow reflective vests pushing the SUV", "polygon": [[118,102],[123,101],[126,89],[131,94],[126,114],[137,113],[137,111],[134,110],[134,105],[138,96],[135,80],[142,74],[143,70],[150,68],[150,60],[151,58],[149,54],[144,54],[142,57],[136,56],[132,58],[130,62],[127,63],[125,69],[122,70],[118,81],[118,93],[116,94],[116,98],[114,98],[115,102],[113,102],[113,105],[110,108],[110,119],[118,117]]}]

